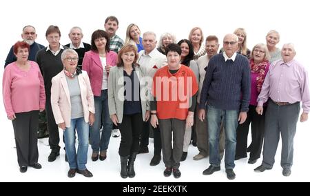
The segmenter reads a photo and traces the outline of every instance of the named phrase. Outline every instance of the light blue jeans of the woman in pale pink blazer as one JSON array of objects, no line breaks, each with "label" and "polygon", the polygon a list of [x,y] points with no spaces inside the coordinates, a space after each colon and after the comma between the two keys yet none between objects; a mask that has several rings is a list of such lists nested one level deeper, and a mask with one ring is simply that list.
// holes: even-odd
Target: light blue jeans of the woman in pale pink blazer
[{"label": "light blue jeans of the woman in pale pink blazer", "polygon": [[[78,152],[75,149],[75,130],[79,139]],[[71,119],[71,126],[65,128],[65,153],[71,169],[85,170],[87,164],[88,136],[90,126],[85,122],[84,117]]]}]

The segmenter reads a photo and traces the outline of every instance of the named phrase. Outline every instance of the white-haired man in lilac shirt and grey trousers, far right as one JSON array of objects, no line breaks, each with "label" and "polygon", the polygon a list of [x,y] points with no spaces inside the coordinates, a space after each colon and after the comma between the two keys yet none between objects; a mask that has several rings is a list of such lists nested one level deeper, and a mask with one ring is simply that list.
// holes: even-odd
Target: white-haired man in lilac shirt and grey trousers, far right
[{"label": "white-haired man in lilac shirt and grey trousers, far right", "polygon": [[308,75],[304,67],[293,58],[296,51],[292,43],[283,45],[282,59],[274,61],[262,85],[258,96],[256,112],[262,115],[262,104],[268,101],[265,119],[265,142],[262,164],[256,172],[270,170],[278,142],[282,139],[281,166],[282,175],[291,175],[293,165],[293,139],[302,101],[300,121],[307,121],[310,109]]}]

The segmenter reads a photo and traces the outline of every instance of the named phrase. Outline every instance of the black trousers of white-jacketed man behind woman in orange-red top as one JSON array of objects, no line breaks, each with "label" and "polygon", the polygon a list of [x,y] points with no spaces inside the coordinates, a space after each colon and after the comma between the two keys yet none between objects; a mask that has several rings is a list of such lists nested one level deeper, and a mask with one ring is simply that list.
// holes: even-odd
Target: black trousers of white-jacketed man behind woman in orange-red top
[{"label": "black trousers of white-jacketed man behind woman in orange-red top", "polygon": [[154,133],[154,155],[161,155],[161,130],[159,129],[159,126],[157,126],[157,128],[150,126],[149,120],[143,122],[140,146],[142,148],[149,146],[149,128],[151,127]]}]

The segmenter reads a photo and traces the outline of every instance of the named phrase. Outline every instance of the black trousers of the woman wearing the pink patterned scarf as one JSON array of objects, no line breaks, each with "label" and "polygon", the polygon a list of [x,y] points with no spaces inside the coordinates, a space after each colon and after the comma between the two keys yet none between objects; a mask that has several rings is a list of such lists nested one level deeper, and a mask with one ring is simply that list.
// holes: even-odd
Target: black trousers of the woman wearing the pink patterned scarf
[{"label": "black trousers of the woman wearing the pink patterned scarf", "polygon": [[249,125],[251,124],[252,143],[249,159],[254,160],[260,158],[265,133],[266,109],[264,107],[262,115],[258,115],[256,106],[249,106],[246,121],[243,124],[239,124],[237,128],[236,157],[247,157],[247,135],[249,133]]}]

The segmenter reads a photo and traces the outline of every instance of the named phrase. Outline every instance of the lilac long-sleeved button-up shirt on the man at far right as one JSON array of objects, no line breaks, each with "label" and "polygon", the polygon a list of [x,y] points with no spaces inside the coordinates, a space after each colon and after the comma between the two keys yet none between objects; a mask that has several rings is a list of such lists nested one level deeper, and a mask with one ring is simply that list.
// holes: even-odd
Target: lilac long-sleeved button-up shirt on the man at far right
[{"label": "lilac long-sleeved button-up shirt on the man at far right", "polygon": [[298,61],[293,59],[285,63],[280,59],[271,64],[258,95],[258,106],[262,106],[269,97],[273,101],[290,104],[302,101],[303,112],[309,113],[308,73]]}]

